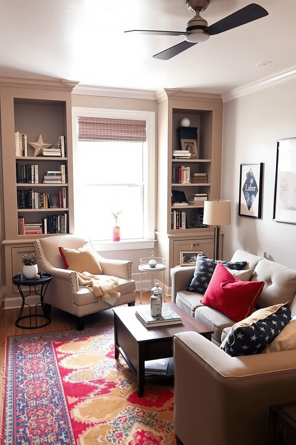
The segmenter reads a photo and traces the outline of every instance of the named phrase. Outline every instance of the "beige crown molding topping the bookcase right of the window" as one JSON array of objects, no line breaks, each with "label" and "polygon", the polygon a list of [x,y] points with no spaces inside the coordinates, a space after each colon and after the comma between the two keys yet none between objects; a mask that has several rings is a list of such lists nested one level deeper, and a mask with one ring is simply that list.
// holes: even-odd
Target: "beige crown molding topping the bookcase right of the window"
[{"label": "beige crown molding topping the bookcase right of the window", "polygon": [[164,88],[155,92],[157,103],[167,99],[185,99],[186,101],[222,102],[220,93],[204,93],[186,89]]}]

